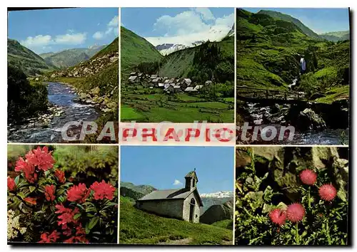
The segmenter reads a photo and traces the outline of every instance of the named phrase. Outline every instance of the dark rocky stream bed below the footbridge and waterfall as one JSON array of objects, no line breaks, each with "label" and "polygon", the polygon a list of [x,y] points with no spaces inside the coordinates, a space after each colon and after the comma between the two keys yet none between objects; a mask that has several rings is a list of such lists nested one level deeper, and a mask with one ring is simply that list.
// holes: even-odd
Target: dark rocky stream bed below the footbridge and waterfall
[{"label": "dark rocky stream bed below the footbridge and waterfall", "polygon": [[[290,145],[346,145],[348,144],[348,102],[336,101],[331,105],[306,103],[305,105],[244,103],[239,111],[250,125],[262,130],[274,126],[280,134],[281,126],[295,127],[293,140],[269,144]],[[253,135],[248,131],[247,135]],[[238,140],[240,140],[238,138]],[[266,144],[260,137],[244,144]]]}]

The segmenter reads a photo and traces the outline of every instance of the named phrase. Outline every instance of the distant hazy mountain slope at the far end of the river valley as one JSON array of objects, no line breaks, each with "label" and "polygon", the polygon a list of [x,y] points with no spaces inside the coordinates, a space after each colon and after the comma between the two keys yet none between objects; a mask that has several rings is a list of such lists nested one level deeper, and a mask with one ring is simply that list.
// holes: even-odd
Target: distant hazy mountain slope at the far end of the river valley
[{"label": "distant hazy mountain slope at the far end of the river valley", "polygon": [[46,63],[55,65],[57,68],[69,68],[78,63],[89,60],[105,46],[94,46],[91,48],[73,48],[61,51],[59,53],[42,53]]}]

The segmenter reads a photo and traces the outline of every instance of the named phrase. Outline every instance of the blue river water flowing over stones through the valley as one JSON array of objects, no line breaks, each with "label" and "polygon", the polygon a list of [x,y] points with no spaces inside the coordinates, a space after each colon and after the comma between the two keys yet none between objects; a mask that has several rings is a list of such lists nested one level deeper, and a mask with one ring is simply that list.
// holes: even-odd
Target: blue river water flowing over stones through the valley
[{"label": "blue river water flowing over stones through the valley", "polygon": [[61,107],[64,112],[54,117],[48,127],[36,125],[36,122],[11,127],[13,130],[8,131],[9,142],[64,142],[61,129],[66,122],[94,121],[100,115],[94,105],[79,103],[75,90],[67,85],[48,83],[47,90],[49,102]]}]

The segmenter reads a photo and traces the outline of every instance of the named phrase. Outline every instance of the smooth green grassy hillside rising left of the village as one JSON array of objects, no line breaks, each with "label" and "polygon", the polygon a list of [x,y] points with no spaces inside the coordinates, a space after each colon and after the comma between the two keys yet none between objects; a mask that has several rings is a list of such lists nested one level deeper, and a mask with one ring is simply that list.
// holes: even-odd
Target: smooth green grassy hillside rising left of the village
[{"label": "smooth green grassy hillside rising left of the village", "polygon": [[121,26],[121,72],[130,72],[131,68],[142,62],[160,61],[163,56],[145,38],[136,35]]}]

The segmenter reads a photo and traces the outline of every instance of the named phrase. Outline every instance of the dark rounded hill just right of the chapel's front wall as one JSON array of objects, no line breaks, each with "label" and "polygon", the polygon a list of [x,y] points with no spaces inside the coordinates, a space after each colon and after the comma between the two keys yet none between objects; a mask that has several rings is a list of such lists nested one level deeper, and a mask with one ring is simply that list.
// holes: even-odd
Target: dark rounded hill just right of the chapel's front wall
[{"label": "dark rounded hill just right of the chapel's front wall", "polygon": [[217,221],[233,219],[233,200],[224,204],[213,205],[207,209],[200,217],[203,224],[213,224]]}]

